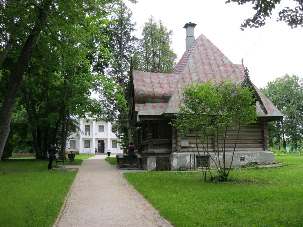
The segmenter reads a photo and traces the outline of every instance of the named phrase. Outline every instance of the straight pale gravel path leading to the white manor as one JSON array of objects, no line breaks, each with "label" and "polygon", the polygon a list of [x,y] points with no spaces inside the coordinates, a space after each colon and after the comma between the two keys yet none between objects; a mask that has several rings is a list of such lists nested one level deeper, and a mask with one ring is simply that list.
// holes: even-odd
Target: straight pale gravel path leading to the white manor
[{"label": "straight pale gravel path leading to the white manor", "polygon": [[172,227],[105,157],[83,160],[54,226]]}]

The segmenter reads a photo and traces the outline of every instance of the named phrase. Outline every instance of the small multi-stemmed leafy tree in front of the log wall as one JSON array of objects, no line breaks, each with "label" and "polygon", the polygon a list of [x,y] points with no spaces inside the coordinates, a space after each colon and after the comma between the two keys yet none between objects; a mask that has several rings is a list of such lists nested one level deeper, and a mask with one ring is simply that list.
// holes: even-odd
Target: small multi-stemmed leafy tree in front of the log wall
[{"label": "small multi-stemmed leafy tree in front of the log wall", "polygon": [[[213,139],[211,143],[215,144],[217,157],[213,161],[219,172],[218,179],[225,181],[231,169],[240,128],[242,125],[254,123],[258,118],[256,107],[252,105],[255,101],[252,98],[253,90],[230,81],[225,81],[220,86],[215,82],[207,82],[189,85],[183,89],[182,106],[172,125],[179,130],[181,136],[189,132],[195,134],[197,149],[199,140],[203,145],[204,155],[209,154],[208,145]],[[231,162],[227,166],[225,139],[231,129],[237,129],[237,137]],[[223,162],[220,156],[223,157]],[[206,171],[203,171],[203,176],[206,180]]]}]

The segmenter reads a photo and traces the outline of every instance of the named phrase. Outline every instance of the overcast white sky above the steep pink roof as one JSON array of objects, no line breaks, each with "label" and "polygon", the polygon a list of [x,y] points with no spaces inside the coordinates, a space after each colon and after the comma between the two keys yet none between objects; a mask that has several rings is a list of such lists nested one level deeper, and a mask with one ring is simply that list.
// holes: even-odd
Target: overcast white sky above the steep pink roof
[{"label": "overcast white sky above the steep pink roof", "polygon": [[[135,33],[140,38],[142,26],[153,15],[174,34],[171,47],[178,54],[178,60],[185,51],[185,29],[192,22],[195,38],[201,33],[215,44],[234,64],[244,59],[251,81],[258,87],[284,76],[286,73],[303,76],[303,28],[291,29],[284,21],[276,22],[278,8],[294,5],[294,1],[282,0],[261,28],[240,30],[241,23],[255,14],[250,3],[238,5],[225,0],[138,0],[137,4],[124,0],[133,12],[136,22]],[[280,11],[279,10],[279,11]]]}]

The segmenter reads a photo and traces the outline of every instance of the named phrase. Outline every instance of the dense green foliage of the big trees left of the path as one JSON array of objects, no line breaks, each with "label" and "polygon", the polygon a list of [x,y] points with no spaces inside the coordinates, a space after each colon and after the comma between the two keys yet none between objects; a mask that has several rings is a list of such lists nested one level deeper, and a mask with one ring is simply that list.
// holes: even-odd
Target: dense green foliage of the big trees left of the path
[{"label": "dense green foliage of the big trees left of the path", "polygon": [[[126,106],[122,88],[112,78],[104,76],[105,68],[113,58],[108,50],[110,32],[107,28],[108,15],[115,1],[81,0],[77,4],[74,1],[2,1],[3,46],[0,53],[4,53],[10,37],[13,38],[1,67],[3,90],[9,84],[14,64],[24,46],[23,40],[38,17],[39,5],[42,7],[49,2],[52,4],[44,10],[47,17],[41,25],[24,77],[22,75],[22,92],[17,98],[19,108],[14,110],[15,122],[23,120],[25,123],[11,125],[12,133],[8,138],[8,147],[35,148],[37,158],[43,158],[49,143],[59,144],[59,151],[65,155],[72,122],[70,116],[89,114],[98,119],[113,120],[117,117],[113,107]],[[18,12],[22,11],[25,13],[20,15]],[[90,97],[93,91],[99,94],[99,100]],[[0,103],[3,97],[4,93],[0,93]],[[28,138],[18,146],[12,138],[18,138],[21,126],[22,130],[27,130],[23,137]]]}]

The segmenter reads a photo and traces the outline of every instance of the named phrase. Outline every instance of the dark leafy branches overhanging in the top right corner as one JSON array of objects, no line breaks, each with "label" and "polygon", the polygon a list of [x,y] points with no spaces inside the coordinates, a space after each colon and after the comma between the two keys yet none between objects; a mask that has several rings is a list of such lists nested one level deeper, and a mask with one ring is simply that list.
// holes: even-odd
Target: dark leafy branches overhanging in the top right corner
[{"label": "dark leafy branches overhanging in the top right corner", "polygon": [[[303,2],[301,0],[293,0],[296,2],[294,8],[286,6],[279,12],[277,21],[285,21],[291,28],[297,28],[298,25],[303,27]],[[272,10],[276,8],[276,5],[280,4],[281,0],[227,0],[225,3],[237,2],[239,5],[243,5],[247,2],[251,2],[252,7],[257,12],[252,18],[248,18],[241,24],[241,30],[244,28],[259,28],[265,25],[267,17],[272,16]]]}]

